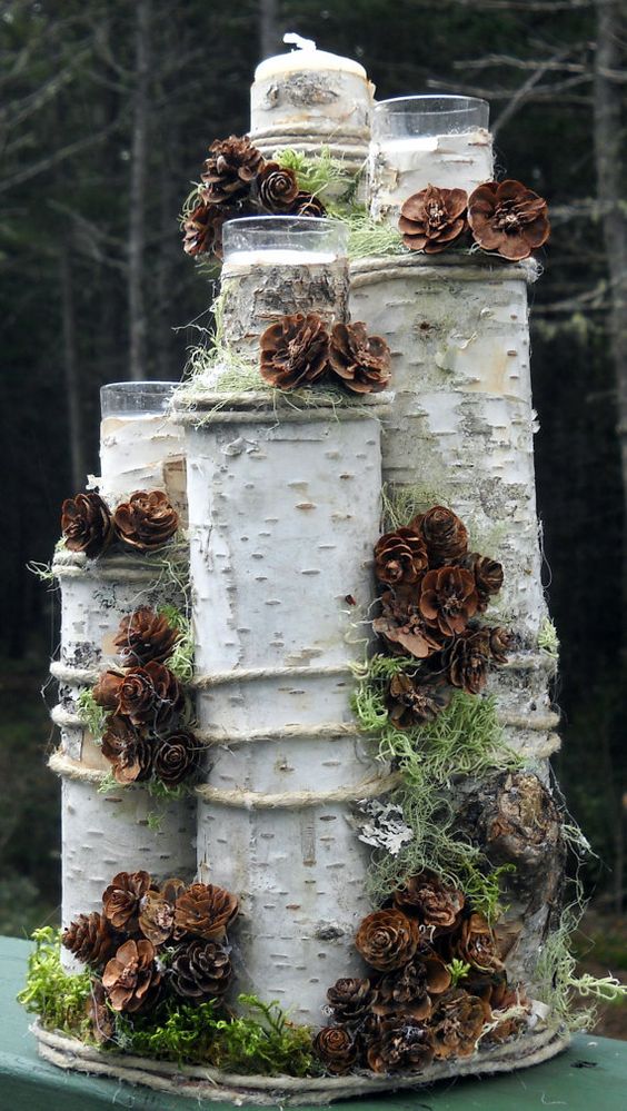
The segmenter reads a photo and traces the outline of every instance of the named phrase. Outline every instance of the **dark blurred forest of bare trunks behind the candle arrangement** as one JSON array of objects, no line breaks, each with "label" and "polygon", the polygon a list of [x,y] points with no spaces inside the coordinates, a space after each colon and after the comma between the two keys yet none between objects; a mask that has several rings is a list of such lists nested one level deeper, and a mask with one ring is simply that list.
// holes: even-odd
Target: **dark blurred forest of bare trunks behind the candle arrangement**
[{"label": "dark blurred forest of bare trunks behind the candle arrangement", "polygon": [[379,99],[485,97],[499,175],[549,201],[531,339],[546,586],[561,641],[556,770],[596,854],[590,959],[627,966],[626,8],[0,2],[2,932],[54,921],[59,902],[58,784],[39,693],[59,605],[26,564],[50,558],[62,498],[98,472],[100,385],[178,379],[209,323],[211,290],[182,254],[177,214],[211,140],[246,131],[255,66],[286,49],[289,30],[358,58]]}]

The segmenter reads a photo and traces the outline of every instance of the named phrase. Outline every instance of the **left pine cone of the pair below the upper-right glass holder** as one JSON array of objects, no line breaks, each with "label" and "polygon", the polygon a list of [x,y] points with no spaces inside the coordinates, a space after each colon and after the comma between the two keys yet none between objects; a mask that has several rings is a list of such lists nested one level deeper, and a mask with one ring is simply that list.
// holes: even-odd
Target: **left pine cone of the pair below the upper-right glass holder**
[{"label": "left pine cone of the pair below the upper-right glass holder", "polygon": [[435,255],[449,247],[468,227],[465,189],[427,186],[409,197],[400,210],[398,229],[410,250]]}]

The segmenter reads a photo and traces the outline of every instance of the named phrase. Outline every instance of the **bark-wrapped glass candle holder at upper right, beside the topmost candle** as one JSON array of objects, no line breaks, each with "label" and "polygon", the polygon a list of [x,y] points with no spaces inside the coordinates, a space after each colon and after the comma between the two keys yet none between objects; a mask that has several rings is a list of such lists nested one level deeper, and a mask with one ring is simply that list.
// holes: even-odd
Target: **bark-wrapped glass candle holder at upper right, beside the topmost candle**
[{"label": "bark-wrapped glass candle holder at upper right, beside the topmost candle", "polygon": [[396,224],[402,204],[428,185],[466,189],[492,178],[489,105],[476,97],[384,100],[372,113],[370,212]]}]

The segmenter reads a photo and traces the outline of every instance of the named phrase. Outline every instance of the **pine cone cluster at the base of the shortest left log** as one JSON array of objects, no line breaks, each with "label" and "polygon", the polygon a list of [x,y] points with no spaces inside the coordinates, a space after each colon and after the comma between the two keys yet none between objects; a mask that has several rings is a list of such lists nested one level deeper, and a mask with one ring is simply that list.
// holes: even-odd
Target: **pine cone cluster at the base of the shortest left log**
[{"label": "pine cone cluster at the base of the shortest left log", "polygon": [[63,945],[93,972],[94,1036],[115,1036],[115,1013],[152,1010],[168,995],[202,1003],[219,999],[231,975],[227,930],[238,901],[213,884],[148,872],[119,872],[102,894],[102,913],[80,914]]}]

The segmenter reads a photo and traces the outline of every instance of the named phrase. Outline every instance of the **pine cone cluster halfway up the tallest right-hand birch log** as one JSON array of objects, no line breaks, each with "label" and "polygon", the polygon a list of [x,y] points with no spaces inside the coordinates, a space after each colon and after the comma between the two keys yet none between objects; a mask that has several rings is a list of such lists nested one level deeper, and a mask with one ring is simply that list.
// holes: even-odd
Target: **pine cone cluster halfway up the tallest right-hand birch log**
[{"label": "pine cone cluster halfway up the tallest right-hand birch log", "polygon": [[490,663],[507,663],[509,634],[478,623],[502,586],[502,567],[468,552],[466,526],[450,509],[436,505],[381,536],[375,574],[382,591],[372,628],[388,653],[416,659],[387,691],[398,728],[434,721],[456,687],[479,694]]}]

